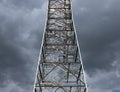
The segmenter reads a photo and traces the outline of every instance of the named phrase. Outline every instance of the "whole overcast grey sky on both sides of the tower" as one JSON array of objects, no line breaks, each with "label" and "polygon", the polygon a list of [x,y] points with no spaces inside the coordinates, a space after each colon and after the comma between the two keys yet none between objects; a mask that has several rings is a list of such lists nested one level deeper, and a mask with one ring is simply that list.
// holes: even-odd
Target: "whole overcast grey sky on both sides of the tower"
[{"label": "whole overcast grey sky on both sides of the tower", "polygon": [[[72,0],[89,92],[120,90],[120,0]],[[0,0],[0,92],[32,92],[47,0]]]}]

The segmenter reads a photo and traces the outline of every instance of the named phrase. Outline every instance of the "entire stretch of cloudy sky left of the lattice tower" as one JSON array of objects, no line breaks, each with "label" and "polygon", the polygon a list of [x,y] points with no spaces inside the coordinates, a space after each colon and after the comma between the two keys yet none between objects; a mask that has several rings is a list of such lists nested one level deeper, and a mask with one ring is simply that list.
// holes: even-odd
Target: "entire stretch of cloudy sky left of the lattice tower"
[{"label": "entire stretch of cloudy sky left of the lattice tower", "polygon": [[43,1],[32,2],[0,1],[0,90],[5,92],[32,90],[46,13]]}]

